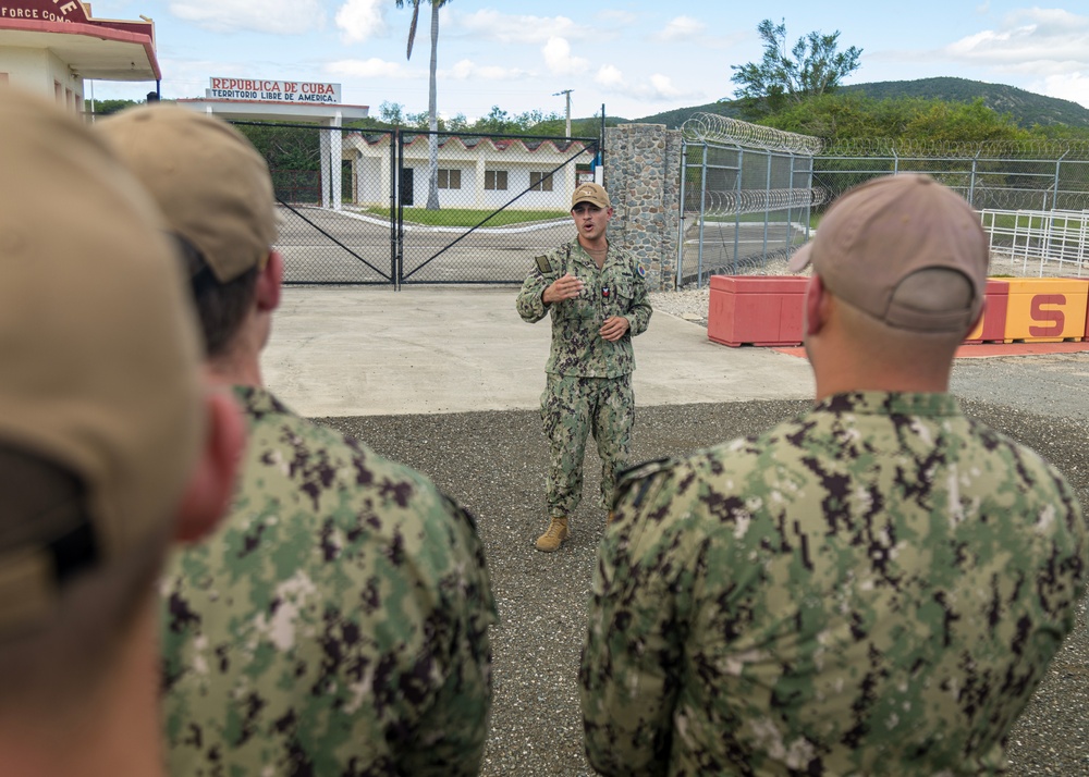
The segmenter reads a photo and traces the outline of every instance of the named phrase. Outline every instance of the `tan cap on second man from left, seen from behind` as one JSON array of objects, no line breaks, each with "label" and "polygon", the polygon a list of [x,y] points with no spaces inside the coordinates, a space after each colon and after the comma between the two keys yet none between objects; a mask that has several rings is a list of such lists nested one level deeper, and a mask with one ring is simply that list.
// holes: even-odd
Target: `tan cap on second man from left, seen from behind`
[{"label": "tan cap on second man from left, seen from behind", "polygon": [[161,102],[101,119],[95,130],[219,283],[264,266],[277,239],[272,178],[265,158],[237,130]]}]

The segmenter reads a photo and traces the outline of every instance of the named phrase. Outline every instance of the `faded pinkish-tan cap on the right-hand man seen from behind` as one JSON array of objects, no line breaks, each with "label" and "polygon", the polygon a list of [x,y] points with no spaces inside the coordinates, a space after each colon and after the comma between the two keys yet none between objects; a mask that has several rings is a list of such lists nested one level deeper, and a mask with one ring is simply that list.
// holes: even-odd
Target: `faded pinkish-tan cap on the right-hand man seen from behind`
[{"label": "faded pinkish-tan cap on the right-hand man seen from behind", "polygon": [[[873,178],[841,196],[791,259],[836,297],[890,326],[967,332],[983,304],[989,248],[979,215],[927,175]],[[970,284],[949,283],[945,270]]]}]

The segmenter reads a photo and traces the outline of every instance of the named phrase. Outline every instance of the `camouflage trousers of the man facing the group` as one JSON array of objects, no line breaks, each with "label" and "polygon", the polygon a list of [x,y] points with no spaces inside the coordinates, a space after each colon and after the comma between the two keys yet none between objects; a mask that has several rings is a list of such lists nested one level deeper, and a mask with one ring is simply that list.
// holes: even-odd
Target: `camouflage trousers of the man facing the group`
[{"label": "camouflage trousers of the man facing the group", "polygon": [[612,507],[616,472],[627,465],[635,423],[632,375],[548,375],[541,419],[549,439],[544,501],[549,516],[570,515],[583,498],[583,455],[592,434],[601,459],[601,506]]}]

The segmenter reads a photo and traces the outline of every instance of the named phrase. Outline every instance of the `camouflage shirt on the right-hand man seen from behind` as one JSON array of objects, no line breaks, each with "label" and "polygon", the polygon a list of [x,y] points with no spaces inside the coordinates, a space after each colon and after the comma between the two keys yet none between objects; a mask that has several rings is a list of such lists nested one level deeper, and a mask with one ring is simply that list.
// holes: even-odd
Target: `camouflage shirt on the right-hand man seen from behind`
[{"label": "camouflage shirt on the right-hand man seen from behind", "polygon": [[1077,497],[945,394],[622,477],[580,684],[605,775],[977,775],[1074,624]]}]

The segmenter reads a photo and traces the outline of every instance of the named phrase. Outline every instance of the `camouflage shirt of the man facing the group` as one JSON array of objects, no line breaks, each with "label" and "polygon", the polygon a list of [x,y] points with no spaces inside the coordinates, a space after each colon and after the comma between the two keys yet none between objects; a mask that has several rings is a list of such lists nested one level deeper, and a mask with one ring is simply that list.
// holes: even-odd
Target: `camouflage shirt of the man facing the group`
[{"label": "camouflage shirt of the man facing the group", "polygon": [[[552,316],[552,350],[544,371],[556,375],[582,378],[619,378],[635,369],[632,337],[647,331],[650,303],[647,299],[646,269],[627,251],[610,246],[601,269],[578,240],[572,240],[546,254],[552,268],[542,273],[535,268],[518,293],[518,314],[524,321],[537,323]],[[584,284],[574,299],[544,305],[544,289],[564,273],[571,273]],[[608,289],[608,295],[605,294]],[[611,316],[623,316],[631,329],[615,343],[598,334]]]}]

